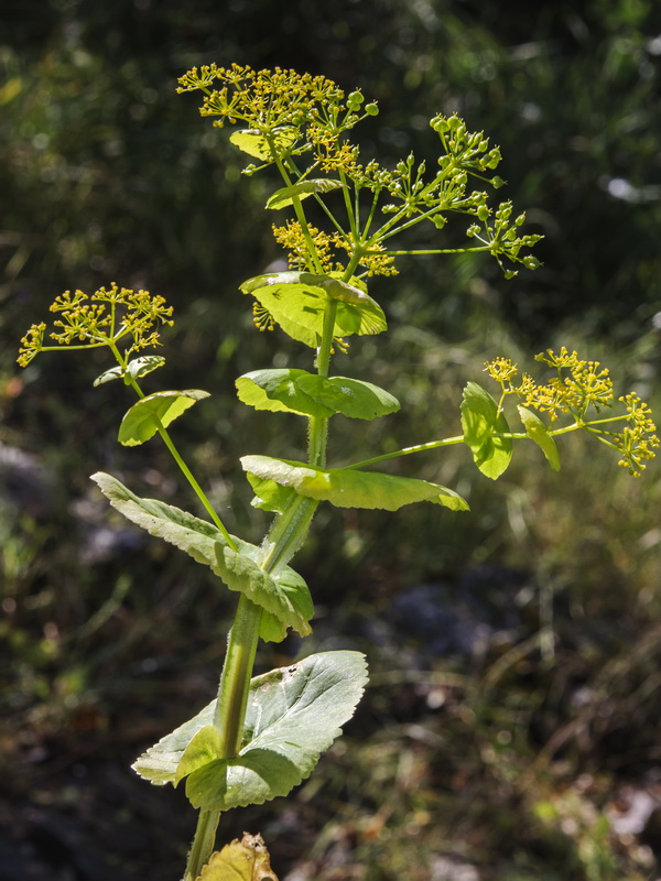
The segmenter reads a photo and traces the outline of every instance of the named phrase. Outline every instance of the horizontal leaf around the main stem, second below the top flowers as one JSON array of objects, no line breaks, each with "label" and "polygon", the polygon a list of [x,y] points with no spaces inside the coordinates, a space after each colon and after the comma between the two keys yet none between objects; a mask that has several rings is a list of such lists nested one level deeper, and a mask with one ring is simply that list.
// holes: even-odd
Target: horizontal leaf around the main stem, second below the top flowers
[{"label": "horizontal leaf around the main stem, second below the top flowers", "polygon": [[256,410],[305,416],[342,413],[372,420],[399,410],[399,401],[378,385],[347,377],[329,379],[306,370],[253,370],[236,382],[239,400]]}]

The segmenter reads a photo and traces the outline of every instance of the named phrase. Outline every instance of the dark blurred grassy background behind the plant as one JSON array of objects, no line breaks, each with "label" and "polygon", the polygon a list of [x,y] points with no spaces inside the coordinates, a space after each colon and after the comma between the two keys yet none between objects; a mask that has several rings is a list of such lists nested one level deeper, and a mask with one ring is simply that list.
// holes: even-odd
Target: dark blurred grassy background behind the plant
[{"label": "dark blurred grassy background behind the plant", "polygon": [[[460,389],[496,355],[566,345],[661,407],[661,8],[654,0],[6,0],[0,11],[0,879],[177,878],[182,793],[128,766],[215,693],[232,598],[115,518],[88,476],[195,510],[164,450],[115,442],[132,403],[105,362],[20,337],[64,290],[116,280],[175,307],[151,390],[203,388],[176,439],[232,530],[259,540],[237,467],[296,458],[293,416],[234,380],[301,354],[252,329],[237,286],[279,257],[225,132],[176,77],[205,63],[325,74],[379,101],[365,148],[434,159],[457,112],[500,144],[500,195],[544,235],[505,282],[423,259],[370,293],[390,333],[347,371],[403,403],[334,461],[456,434]],[[339,360],[339,359],[338,359]],[[596,448],[598,447],[598,448]],[[290,800],[228,816],[268,839],[281,881],[609,881],[661,872],[661,493],[609,450],[521,450],[491,483],[467,450],[404,460],[469,514],[323,510],[300,556],[317,602],[297,652],[364,650],[372,685]],[[424,509],[424,510],[423,510]]]}]

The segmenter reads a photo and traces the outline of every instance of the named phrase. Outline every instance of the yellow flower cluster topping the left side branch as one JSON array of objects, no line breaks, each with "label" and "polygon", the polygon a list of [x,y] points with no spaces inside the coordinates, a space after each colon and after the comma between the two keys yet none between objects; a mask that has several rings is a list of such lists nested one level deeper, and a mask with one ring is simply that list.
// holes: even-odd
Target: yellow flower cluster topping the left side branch
[{"label": "yellow flower cluster topping the left side branch", "polygon": [[100,287],[91,296],[83,291],[66,291],[55,297],[50,309],[61,316],[53,322],[58,329],[50,334],[57,345],[44,345],[44,322],[33,324],[21,340],[18,358],[21,367],[28,367],[40,351],[71,346],[76,341],[73,348],[116,346],[127,335],[131,338],[128,355],[160,345],[154,324],[173,324],[172,306],[167,306],[162,296],[119,287],[115,283],[109,289]]}]

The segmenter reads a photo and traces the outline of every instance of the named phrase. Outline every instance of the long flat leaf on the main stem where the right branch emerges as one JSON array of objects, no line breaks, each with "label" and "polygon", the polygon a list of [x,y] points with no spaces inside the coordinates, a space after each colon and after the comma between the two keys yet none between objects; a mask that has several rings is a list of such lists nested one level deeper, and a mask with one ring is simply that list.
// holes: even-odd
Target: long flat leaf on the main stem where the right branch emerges
[{"label": "long flat leaf on the main stem where the right branch emerges", "polygon": [[[413,502],[433,502],[452,511],[467,511],[468,504],[446,487],[410,477],[393,477],[349,468],[314,468],[299,461],[269,456],[243,456],[241,466],[261,480],[291,487],[301,496],[328,501],[338,508],[381,508],[397,511]],[[252,481],[251,481],[252,482]]]}]

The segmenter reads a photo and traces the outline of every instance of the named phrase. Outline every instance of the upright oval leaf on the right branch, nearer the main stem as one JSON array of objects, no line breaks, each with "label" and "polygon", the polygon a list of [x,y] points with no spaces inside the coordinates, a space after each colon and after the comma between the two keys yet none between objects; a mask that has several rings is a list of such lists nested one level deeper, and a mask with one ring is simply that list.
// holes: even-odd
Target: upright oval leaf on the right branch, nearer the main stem
[{"label": "upright oval leaf on the right branch, nearer the main stem", "polygon": [[509,433],[507,420],[496,401],[477,382],[469,382],[464,389],[462,427],[475,464],[484,475],[496,480],[510,464],[512,440],[496,436]]}]

